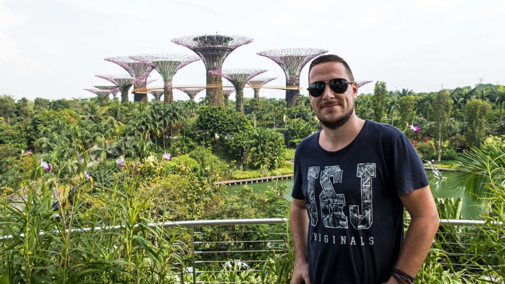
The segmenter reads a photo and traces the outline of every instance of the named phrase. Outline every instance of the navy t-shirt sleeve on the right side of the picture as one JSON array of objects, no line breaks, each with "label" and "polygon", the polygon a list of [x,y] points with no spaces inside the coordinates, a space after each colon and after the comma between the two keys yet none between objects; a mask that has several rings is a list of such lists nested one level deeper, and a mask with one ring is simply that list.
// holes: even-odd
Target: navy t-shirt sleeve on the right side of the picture
[{"label": "navy t-shirt sleeve on the right side of the picture", "polygon": [[396,193],[404,195],[429,185],[424,165],[411,141],[401,133],[391,149]]}]

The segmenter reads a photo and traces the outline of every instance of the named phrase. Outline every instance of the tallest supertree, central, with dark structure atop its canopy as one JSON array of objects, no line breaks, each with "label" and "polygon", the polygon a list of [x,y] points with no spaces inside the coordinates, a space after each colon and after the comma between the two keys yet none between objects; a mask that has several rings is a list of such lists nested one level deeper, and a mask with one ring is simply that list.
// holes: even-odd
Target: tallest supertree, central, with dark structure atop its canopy
[{"label": "tallest supertree, central, with dark structure atop its canopy", "polygon": [[225,58],[239,46],[252,42],[252,38],[215,34],[178,37],[172,39],[172,42],[186,46],[201,58],[207,69],[207,85],[214,86],[207,88],[206,98],[214,106],[223,106],[224,97],[221,87],[223,79],[217,73],[209,71],[221,72]]}]

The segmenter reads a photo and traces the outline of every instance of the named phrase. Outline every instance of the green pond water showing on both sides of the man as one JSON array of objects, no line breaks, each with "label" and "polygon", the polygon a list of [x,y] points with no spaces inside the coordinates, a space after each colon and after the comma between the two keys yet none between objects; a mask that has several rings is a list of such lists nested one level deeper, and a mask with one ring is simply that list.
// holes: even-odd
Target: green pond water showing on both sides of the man
[{"label": "green pond water showing on both sides of the man", "polygon": [[[472,199],[471,196],[465,194],[463,188],[458,188],[456,185],[455,173],[453,172],[442,172],[442,176],[446,177],[442,181],[435,178],[433,172],[426,171],[428,178],[430,180],[431,193],[434,197],[438,198],[454,198],[457,199],[461,197],[463,200],[463,210],[462,210],[462,218],[463,219],[479,219],[478,216],[481,212],[480,203],[476,202]],[[293,179],[283,179],[278,181],[267,181],[267,182],[258,182],[258,183],[247,183],[247,186],[252,188],[252,191],[255,193],[262,193],[267,189],[268,185],[275,185],[277,182],[278,185],[286,185],[287,190],[284,198],[288,201],[291,201],[291,188],[293,187]],[[228,193],[236,193],[241,190],[242,185],[228,185],[226,191]]]}]

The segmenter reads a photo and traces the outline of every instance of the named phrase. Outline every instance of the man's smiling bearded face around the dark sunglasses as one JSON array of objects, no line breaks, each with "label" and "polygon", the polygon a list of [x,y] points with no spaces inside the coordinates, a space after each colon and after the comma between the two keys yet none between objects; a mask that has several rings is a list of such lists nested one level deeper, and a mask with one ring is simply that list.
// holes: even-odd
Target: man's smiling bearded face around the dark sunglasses
[{"label": "man's smiling bearded face around the dark sunglasses", "polygon": [[[340,62],[325,62],[312,67],[309,84],[317,81],[328,83],[335,78],[350,80],[345,67]],[[309,96],[312,109],[323,126],[337,129],[349,120],[354,113],[354,100],[358,96],[356,83],[349,84],[344,93],[335,93],[327,84],[321,96]]]}]

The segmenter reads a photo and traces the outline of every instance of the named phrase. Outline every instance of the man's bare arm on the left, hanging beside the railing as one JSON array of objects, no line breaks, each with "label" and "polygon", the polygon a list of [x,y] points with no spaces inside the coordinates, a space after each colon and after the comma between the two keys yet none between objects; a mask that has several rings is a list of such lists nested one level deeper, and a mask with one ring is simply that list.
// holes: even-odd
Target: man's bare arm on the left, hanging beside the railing
[{"label": "man's bare arm on the left, hanging beside the railing", "polygon": [[289,224],[294,244],[294,270],[291,283],[298,284],[305,281],[310,284],[309,263],[307,262],[307,232],[309,217],[304,199],[294,199],[289,213]]}]

